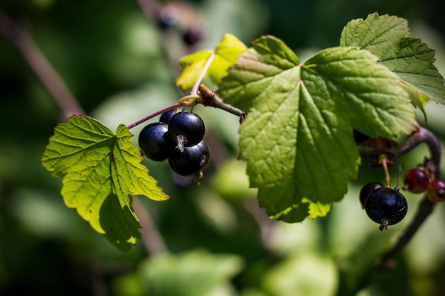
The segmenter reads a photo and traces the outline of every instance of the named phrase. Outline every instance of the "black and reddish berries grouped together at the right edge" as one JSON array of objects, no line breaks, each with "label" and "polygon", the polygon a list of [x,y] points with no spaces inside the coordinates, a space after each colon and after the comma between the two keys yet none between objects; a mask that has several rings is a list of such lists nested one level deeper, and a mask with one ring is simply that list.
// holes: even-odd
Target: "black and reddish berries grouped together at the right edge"
[{"label": "black and reddish berries grouped together at the right edge", "polygon": [[[403,190],[412,193],[427,192],[431,202],[445,200],[445,182],[432,177],[427,168],[411,168],[404,173]],[[380,182],[369,182],[360,190],[360,203],[380,229],[397,224],[408,211],[407,199],[399,190],[387,188]]]}]

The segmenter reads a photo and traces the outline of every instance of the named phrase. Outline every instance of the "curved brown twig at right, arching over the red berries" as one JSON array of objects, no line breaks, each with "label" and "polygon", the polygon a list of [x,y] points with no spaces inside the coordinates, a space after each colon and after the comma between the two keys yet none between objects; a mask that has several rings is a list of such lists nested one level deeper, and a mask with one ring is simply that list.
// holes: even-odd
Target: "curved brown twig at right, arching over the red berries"
[{"label": "curved brown twig at right, arching over the red berries", "polygon": [[[439,140],[434,136],[434,133],[427,130],[427,128],[419,128],[417,133],[414,133],[403,146],[392,148],[389,150],[376,150],[372,148],[358,148],[358,152],[362,158],[378,158],[382,154],[400,156],[409,153],[411,150],[419,146],[421,143],[425,143],[428,146],[430,158],[425,160],[425,165],[434,174],[434,177],[440,178],[440,161],[441,161],[441,148]],[[436,207],[436,203],[430,202],[427,196],[424,196],[417,208],[417,214],[414,219],[402,232],[399,239],[391,246],[383,255],[380,261],[380,268],[390,268],[392,266],[392,260],[397,256],[400,251],[407,246],[407,243],[411,241],[412,237],[416,233],[417,229],[427,219],[427,217],[433,212]]]}]

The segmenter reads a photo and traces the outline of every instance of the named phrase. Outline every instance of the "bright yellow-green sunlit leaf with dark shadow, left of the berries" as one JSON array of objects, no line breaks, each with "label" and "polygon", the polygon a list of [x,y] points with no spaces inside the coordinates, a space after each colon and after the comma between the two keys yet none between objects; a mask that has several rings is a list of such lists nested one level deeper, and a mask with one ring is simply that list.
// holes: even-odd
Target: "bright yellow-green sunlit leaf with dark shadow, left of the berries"
[{"label": "bright yellow-green sunlit leaf with dark shadow, left of the berries", "polygon": [[55,128],[42,156],[43,166],[63,177],[67,207],[122,251],[140,238],[132,196],[168,199],[141,165],[132,136],[124,125],[114,134],[95,119],[73,116]]}]

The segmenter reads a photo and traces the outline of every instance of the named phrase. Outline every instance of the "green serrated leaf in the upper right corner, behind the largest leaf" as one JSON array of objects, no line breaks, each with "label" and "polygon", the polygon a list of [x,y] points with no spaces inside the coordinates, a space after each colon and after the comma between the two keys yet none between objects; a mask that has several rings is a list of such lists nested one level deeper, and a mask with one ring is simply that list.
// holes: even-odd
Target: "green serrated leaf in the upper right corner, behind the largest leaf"
[{"label": "green serrated leaf in the upper right corner, behind the largest leaf", "polygon": [[418,92],[414,106],[421,106],[424,96],[445,104],[444,78],[433,65],[434,50],[409,35],[404,18],[372,13],[365,20],[350,21],[343,29],[340,45],[359,46],[380,57],[383,65]]}]

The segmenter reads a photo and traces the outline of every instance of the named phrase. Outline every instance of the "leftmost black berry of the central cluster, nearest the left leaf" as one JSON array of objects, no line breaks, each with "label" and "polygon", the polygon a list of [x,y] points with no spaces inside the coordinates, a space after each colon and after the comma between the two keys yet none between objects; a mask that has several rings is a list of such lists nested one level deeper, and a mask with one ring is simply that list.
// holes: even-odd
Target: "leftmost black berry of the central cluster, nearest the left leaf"
[{"label": "leftmost black berry of the central cluster, nearest the left leaf", "polygon": [[139,133],[139,148],[151,160],[166,160],[170,157],[175,146],[176,144],[168,134],[168,126],[161,122],[149,124]]}]

